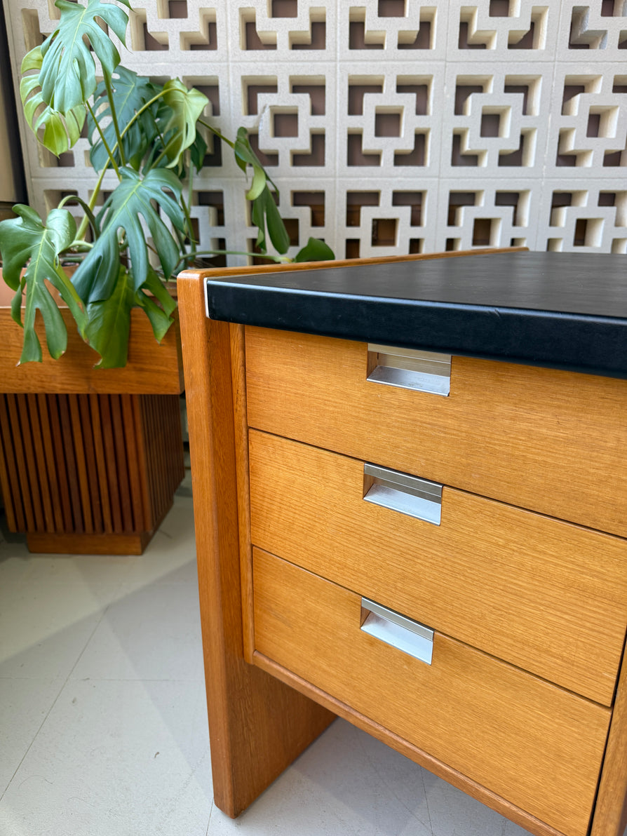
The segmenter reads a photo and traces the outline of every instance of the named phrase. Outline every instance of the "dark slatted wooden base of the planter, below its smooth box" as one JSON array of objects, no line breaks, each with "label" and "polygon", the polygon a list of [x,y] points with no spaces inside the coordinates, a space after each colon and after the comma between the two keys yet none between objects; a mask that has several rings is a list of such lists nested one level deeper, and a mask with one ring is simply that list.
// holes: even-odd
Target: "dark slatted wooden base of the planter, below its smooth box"
[{"label": "dark slatted wooden base of the planter, below its smooth box", "polygon": [[0,489],[32,551],[141,553],[183,473],[177,395],[0,395]]}]

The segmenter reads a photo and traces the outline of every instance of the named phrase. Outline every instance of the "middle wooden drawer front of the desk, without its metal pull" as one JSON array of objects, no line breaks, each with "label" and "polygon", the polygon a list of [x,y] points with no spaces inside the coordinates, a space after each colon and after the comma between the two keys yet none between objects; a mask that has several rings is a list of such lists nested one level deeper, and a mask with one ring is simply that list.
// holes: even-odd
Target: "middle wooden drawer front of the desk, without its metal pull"
[{"label": "middle wooden drawer front of the desk, without its metal pull", "polygon": [[251,431],[252,543],[609,705],[627,542],[445,487],[441,524],[364,502],[364,465]]}]

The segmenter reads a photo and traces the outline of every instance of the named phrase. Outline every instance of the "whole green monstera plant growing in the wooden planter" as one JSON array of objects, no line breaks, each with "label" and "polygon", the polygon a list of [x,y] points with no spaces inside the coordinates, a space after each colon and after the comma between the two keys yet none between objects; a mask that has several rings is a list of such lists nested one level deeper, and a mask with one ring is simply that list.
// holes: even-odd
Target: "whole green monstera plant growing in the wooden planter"
[{"label": "whole green monstera plant growing in the wooden planter", "polygon": [[[119,3],[132,13],[128,0]],[[227,139],[203,117],[208,99],[199,90],[178,79],[156,83],[120,65],[109,32],[125,43],[124,8],[102,0],[55,5],[59,27],[23,59],[24,114],[55,155],[86,130],[89,159],[99,176],[89,203],[66,196],[45,219],[29,206],[13,207],[17,217],[0,223],[3,278],[15,291],[13,319],[23,325],[20,363],[42,359],[37,310],[49,353],[64,354],[67,331],[56,291],[83,339],[99,353],[99,366],[112,368],[126,363],[131,308],[144,309],[161,340],[176,308],[166,281],[211,254],[198,251],[190,215],[192,176],[201,169],[208,134],[230,145],[237,165],[252,174],[246,196],[258,231],[257,254],[287,260],[289,237],[277,208],[278,191],[247,131],[240,128],[235,140]],[[103,203],[110,170],[118,183]],[[78,223],[67,208],[72,202],[82,213]],[[268,254],[268,239],[278,256]],[[332,257],[324,242],[309,239],[295,260]],[[64,265],[74,265],[74,272]]]}]

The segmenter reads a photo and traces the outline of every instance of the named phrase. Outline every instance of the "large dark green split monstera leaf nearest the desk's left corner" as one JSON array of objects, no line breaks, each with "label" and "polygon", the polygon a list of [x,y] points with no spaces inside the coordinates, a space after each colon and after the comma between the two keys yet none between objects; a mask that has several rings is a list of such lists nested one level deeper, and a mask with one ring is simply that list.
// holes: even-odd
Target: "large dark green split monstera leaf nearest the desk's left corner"
[{"label": "large dark green split monstera leaf nearest the desk's left corner", "polygon": [[[153,205],[154,201],[174,227],[184,231],[185,215],[176,202],[181,198],[181,182],[176,175],[160,168],[142,179],[129,167],[121,168],[120,175],[120,184],[99,214],[100,237],[74,273],[74,287],[86,303],[104,301],[114,292],[120,265],[120,230],[128,241],[133,287],[139,290],[146,282],[148,248],[140,218],[150,231],[166,277],[171,276],[181,256],[178,243]],[[171,191],[176,200],[166,191]]]}]

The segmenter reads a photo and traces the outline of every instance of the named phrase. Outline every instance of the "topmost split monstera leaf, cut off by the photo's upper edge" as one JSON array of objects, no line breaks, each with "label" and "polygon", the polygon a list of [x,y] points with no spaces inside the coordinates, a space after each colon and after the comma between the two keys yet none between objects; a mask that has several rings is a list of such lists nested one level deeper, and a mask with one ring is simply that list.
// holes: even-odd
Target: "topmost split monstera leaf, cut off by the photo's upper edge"
[{"label": "topmost split monstera leaf, cut off by the photo's upper edge", "polygon": [[[128,0],[120,3],[130,8]],[[59,28],[43,42],[39,79],[43,101],[66,114],[84,104],[96,89],[94,54],[105,75],[110,76],[120,64],[120,54],[99,21],[106,23],[124,43],[129,18],[115,3],[100,0],[89,0],[87,6],[57,0],[54,5],[61,10],[61,20]]]}]

